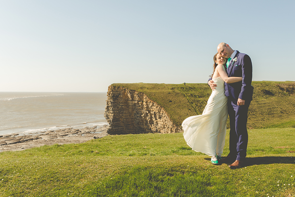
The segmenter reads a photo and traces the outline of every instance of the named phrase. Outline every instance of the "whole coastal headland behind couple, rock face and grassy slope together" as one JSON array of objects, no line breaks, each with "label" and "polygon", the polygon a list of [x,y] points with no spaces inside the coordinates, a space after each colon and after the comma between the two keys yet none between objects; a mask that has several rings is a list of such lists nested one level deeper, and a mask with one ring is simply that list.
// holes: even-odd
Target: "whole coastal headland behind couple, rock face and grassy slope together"
[{"label": "whole coastal headland behind couple, rock face and grassy slope together", "polygon": [[[255,82],[248,129],[295,127],[295,82]],[[202,114],[208,84],[114,83],[105,117],[110,133],[180,132],[184,119]],[[229,128],[229,119],[227,122]]]}]

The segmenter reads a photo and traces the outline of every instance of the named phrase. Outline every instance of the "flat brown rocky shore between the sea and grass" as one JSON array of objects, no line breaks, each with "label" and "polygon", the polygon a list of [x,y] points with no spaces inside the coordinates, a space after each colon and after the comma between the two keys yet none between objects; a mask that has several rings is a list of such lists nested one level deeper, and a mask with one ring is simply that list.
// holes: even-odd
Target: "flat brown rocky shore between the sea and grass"
[{"label": "flat brown rocky shore between the sea and grass", "polygon": [[0,135],[0,152],[25,150],[43,145],[83,143],[108,135],[108,128],[108,125],[103,125],[102,127],[93,126],[83,129],[67,128],[38,133]]}]

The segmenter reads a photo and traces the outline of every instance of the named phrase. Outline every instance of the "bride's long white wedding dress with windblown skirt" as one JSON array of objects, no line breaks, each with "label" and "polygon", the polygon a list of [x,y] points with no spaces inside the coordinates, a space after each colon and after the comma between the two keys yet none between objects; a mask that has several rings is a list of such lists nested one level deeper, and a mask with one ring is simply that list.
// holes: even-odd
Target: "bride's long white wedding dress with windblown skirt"
[{"label": "bride's long white wedding dress with windblown skirt", "polygon": [[182,122],[186,143],[194,151],[210,156],[222,155],[228,118],[224,81],[217,77],[214,82],[217,87],[212,91],[203,114],[188,117]]}]

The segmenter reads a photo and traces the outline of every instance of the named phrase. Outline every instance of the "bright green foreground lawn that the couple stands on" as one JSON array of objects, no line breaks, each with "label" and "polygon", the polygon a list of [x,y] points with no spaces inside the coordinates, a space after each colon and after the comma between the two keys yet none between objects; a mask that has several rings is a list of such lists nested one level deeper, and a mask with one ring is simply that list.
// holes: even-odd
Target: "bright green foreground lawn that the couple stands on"
[{"label": "bright green foreground lawn that the couple stands on", "polygon": [[295,128],[248,133],[247,166],[236,170],[211,165],[182,133],[2,152],[0,196],[295,196]]}]

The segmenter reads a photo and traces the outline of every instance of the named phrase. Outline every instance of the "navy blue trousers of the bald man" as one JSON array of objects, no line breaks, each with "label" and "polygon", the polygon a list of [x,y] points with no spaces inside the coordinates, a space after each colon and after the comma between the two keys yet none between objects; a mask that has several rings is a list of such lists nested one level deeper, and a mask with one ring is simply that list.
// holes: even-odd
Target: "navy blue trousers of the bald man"
[{"label": "navy blue trousers of the bald man", "polygon": [[228,97],[228,115],[231,127],[229,132],[229,155],[236,156],[236,160],[239,161],[245,159],[247,155],[247,119],[250,102],[245,102],[245,105],[239,106],[235,105],[231,98]]}]

